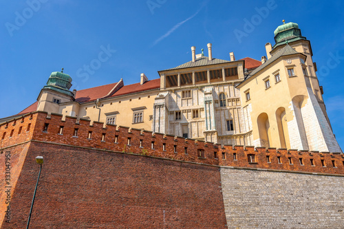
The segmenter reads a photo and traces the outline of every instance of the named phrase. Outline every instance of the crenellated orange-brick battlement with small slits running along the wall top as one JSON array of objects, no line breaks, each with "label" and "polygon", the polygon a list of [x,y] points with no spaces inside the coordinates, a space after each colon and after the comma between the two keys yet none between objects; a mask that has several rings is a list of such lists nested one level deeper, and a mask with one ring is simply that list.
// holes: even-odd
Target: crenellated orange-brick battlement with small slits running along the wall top
[{"label": "crenellated orange-brick battlement with small slits running along the wall top", "polygon": [[0,125],[1,149],[30,140],[215,166],[344,174],[344,155],[219,145],[36,111]]}]

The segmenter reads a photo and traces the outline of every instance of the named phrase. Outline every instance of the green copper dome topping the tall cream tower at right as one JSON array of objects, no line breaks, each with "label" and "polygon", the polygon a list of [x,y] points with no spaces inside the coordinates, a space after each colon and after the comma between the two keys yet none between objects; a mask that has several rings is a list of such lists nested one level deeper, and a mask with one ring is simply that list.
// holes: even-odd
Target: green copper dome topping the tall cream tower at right
[{"label": "green copper dome topping the tall cream tower at right", "polygon": [[305,40],[304,36],[301,36],[301,30],[299,29],[299,25],[297,23],[289,22],[285,23],[283,20],[283,25],[279,25],[274,32],[275,34],[275,42],[273,48],[286,44],[287,42],[293,42],[298,40]]}]

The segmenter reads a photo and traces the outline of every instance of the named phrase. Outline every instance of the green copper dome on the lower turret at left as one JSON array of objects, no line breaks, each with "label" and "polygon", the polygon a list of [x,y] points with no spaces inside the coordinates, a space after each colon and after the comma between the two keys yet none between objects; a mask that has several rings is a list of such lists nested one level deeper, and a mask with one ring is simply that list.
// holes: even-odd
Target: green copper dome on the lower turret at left
[{"label": "green copper dome on the lower turret at left", "polygon": [[69,91],[70,87],[72,87],[72,77],[63,72],[52,72],[47,80],[47,85],[43,88],[52,89],[73,96],[72,92]]}]

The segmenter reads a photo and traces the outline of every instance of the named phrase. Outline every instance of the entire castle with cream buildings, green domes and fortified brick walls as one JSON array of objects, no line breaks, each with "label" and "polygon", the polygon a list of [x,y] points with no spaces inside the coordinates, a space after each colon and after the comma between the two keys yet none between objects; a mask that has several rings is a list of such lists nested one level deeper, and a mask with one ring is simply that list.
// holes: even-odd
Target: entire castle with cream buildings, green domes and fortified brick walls
[{"label": "entire castle with cream buildings, green domes and fortified brick walls", "polygon": [[70,91],[53,72],[1,119],[0,227],[343,228],[344,155],[296,23],[261,61],[195,54],[160,78]]}]

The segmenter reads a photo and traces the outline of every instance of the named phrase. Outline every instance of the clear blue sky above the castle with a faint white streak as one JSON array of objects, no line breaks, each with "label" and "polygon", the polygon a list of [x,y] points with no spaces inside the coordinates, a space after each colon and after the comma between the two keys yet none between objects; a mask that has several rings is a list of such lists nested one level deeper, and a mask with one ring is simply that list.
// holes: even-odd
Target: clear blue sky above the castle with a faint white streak
[{"label": "clear blue sky above the castle with a faint white streak", "polygon": [[[344,146],[343,1],[0,0],[0,118],[36,101],[51,72],[65,69],[72,89],[138,83],[140,74],[191,61],[213,43],[213,57],[260,60],[274,30],[299,24],[311,41],[323,98]],[[253,22],[245,28],[246,21]],[[244,32],[237,36],[235,32]],[[99,56],[102,50],[107,55]],[[87,66],[89,67],[87,69]]]}]

